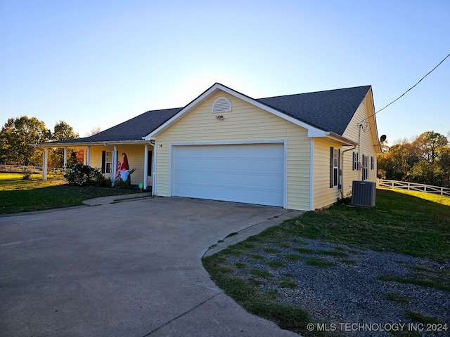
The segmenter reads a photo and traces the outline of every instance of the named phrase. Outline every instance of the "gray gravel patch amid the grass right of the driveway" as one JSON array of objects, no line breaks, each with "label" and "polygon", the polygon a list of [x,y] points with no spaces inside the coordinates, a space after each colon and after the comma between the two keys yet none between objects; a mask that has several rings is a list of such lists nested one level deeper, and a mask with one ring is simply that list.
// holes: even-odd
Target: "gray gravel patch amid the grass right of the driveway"
[{"label": "gray gravel patch amid the grass right of the driveway", "polygon": [[[263,245],[264,249],[255,251],[258,256],[229,256],[231,263],[246,265],[241,265],[238,275],[254,279],[249,274],[252,268],[269,271],[273,277],[258,279],[260,287],[276,289],[281,294],[280,303],[304,308],[317,321],[326,322],[322,329],[335,330],[342,336],[393,336],[387,331],[391,329],[404,332],[416,329],[420,331],[417,336],[449,336],[444,331],[425,331],[427,327],[436,330],[439,326],[411,325],[413,321],[404,316],[407,310],[420,312],[446,323],[450,329],[449,291],[383,281],[378,277],[434,279],[450,286],[450,263],[311,239],[296,240],[283,246]],[[269,267],[269,261],[273,260],[283,261],[284,265]],[[333,265],[308,264],[323,261]],[[281,279],[291,283],[295,280],[297,287],[283,288],[279,284]],[[387,294],[401,296],[397,300],[406,303],[388,300]],[[313,329],[319,329],[317,324]]]}]

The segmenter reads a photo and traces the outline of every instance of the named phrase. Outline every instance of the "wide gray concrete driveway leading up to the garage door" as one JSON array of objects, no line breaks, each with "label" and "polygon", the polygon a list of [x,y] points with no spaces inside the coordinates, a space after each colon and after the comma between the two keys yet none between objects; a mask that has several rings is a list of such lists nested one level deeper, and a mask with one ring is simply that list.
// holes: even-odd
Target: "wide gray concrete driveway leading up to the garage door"
[{"label": "wide gray concrete driveway leading up to the garage door", "polygon": [[298,336],[243,310],[200,260],[297,214],[155,198],[1,216],[0,336]]}]

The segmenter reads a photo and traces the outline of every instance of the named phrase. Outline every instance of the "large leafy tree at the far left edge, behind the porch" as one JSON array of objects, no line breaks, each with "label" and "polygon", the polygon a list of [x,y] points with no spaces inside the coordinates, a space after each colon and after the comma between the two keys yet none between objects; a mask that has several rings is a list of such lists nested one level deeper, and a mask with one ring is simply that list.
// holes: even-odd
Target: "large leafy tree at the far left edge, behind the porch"
[{"label": "large leafy tree at the far left edge, behind the porch", "polygon": [[0,161],[10,165],[42,164],[42,150],[30,144],[44,143],[51,132],[36,117],[9,118],[0,131]]}]

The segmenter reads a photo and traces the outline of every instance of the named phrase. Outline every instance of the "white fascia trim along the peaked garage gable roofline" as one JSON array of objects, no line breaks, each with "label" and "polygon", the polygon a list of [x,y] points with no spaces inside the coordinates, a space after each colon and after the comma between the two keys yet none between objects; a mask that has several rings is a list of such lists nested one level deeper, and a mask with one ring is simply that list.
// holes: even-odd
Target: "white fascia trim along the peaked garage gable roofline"
[{"label": "white fascia trim along the peaked garage gable roofline", "polygon": [[[284,114],[283,112],[280,112],[272,107],[264,105],[263,103],[259,103],[257,100],[254,100],[253,98],[250,98],[247,95],[244,95],[243,93],[239,93],[238,91],[235,91],[227,86],[216,83],[213,86],[211,86],[209,89],[207,89],[207,91],[205,91],[200,96],[198,96],[198,98],[195,98],[195,100],[193,100],[191,103],[186,105],[186,107],[184,107],[180,112],[178,112],[178,114],[175,114],[174,117],[172,117],[171,119],[166,121],[165,124],[162,124],[159,128],[156,128],[154,131],[149,133],[146,136],[146,139],[150,140],[153,136],[156,136],[160,131],[167,128],[167,126],[169,126],[174,121],[176,121],[176,119],[179,119],[179,117],[183,116],[186,112],[188,112],[193,107],[195,107],[195,105],[198,105],[198,103],[200,103],[202,100],[207,98],[207,96],[211,95],[212,93],[214,93],[217,90],[221,90],[221,91],[224,91],[225,93],[229,93],[230,95],[233,95],[234,97],[239,98],[240,100],[250,103],[251,105],[255,105],[255,107],[259,107],[259,109],[265,110],[266,112],[270,112],[271,114],[275,114],[276,116],[281,117],[282,119],[285,119],[286,121],[290,121],[291,123],[293,123],[297,126],[302,126],[302,128],[306,128],[308,130],[308,136],[309,136],[309,133],[311,133],[311,135],[321,136],[321,137],[324,137],[327,134],[326,131],[323,131],[320,128],[316,128],[307,123],[304,123],[304,121],[299,121],[298,119],[290,117],[287,114]],[[310,136],[310,137],[314,137],[314,136]]]}]

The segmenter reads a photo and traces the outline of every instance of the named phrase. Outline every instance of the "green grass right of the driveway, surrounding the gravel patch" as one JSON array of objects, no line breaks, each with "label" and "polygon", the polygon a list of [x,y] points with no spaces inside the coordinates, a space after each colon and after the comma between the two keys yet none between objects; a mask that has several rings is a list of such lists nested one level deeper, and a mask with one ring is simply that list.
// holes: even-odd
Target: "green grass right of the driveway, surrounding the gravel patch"
[{"label": "green grass right of the driveway, surrounding the gravel patch", "polygon": [[[281,225],[270,227],[260,234],[249,237],[244,242],[229,246],[213,256],[203,258],[203,265],[214,282],[249,312],[276,322],[282,329],[289,329],[304,336],[329,336],[324,331],[307,331],[305,329],[307,324],[314,322],[309,312],[277,303],[276,291],[267,292],[260,289],[255,282],[255,275],[249,279],[236,277],[238,270],[242,270],[246,265],[245,263],[233,265],[229,263],[229,257],[238,260],[245,260],[244,258],[247,257],[255,260],[258,251],[268,250],[264,248],[267,244],[283,247],[286,242],[296,240],[301,242],[302,238],[308,238],[345,244],[349,247],[347,251],[351,251],[352,248],[391,251],[440,263],[448,262],[450,260],[450,206],[448,206],[450,197],[417,194],[417,192],[413,194],[416,195],[377,190],[376,206],[373,208],[337,204],[329,209],[304,213],[300,217],[286,220]],[[333,251],[333,254],[336,256],[341,254],[345,258],[347,251],[342,249],[342,251]],[[271,253],[276,254],[277,249],[271,248]],[[301,258],[297,254],[291,255],[293,258]],[[284,258],[290,258],[290,256],[284,256]],[[323,265],[325,262],[311,255],[305,263],[315,265],[317,268],[328,267]],[[345,260],[344,262],[347,263]],[[348,263],[352,261],[349,260]],[[270,267],[283,267],[283,265],[276,265],[272,261]],[[263,274],[264,270],[258,272]],[[264,275],[258,276],[264,277]],[[295,287],[295,282],[290,279],[290,275],[285,277],[277,281],[266,276],[264,282],[278,282],[278,284],[284,282],[289,287]],[[390,275],[383,277],[390,279]],[[449,272],[439,272],[439,270],[418,270],[404,279],[392,279],[392,281],[450,291]],[[271,287],[267,286],[267,288]],[[396,299],[399,300],[397,297],[394,298]],[[408,312],[405,312],[404,316],[411,319]]]}]

